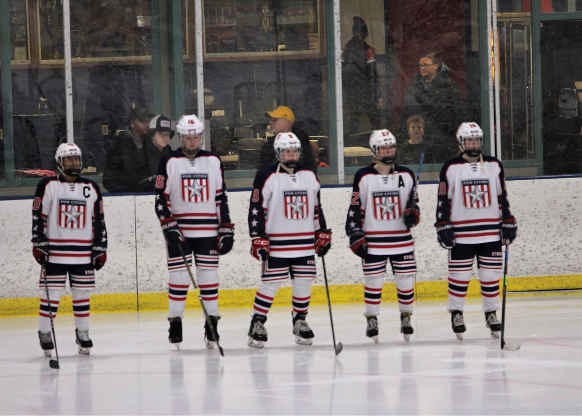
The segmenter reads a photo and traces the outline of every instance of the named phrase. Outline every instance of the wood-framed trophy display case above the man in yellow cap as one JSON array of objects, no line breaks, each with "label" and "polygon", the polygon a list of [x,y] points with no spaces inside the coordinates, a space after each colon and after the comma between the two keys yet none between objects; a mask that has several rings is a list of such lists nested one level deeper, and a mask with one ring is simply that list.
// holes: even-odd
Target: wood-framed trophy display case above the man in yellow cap
[{"label": "wood-framed trophy display case above the man in yellow cap", "polygon": [[319,57],[323,7],[320,0],[205,0],[204,57]]}]

